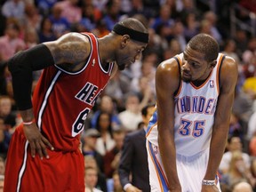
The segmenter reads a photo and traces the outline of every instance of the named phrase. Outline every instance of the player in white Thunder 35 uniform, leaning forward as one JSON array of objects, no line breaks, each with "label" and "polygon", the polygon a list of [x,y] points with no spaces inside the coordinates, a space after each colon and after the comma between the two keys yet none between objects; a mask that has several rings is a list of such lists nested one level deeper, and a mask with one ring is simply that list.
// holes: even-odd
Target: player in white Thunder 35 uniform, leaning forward
[{"label": "player in white Thunder 35 uniform, leaning forward", "polygon": [[220,191],[236,79],[235,61],[205,34],[158,66],[156,112],[147,130],[151,191]]}]

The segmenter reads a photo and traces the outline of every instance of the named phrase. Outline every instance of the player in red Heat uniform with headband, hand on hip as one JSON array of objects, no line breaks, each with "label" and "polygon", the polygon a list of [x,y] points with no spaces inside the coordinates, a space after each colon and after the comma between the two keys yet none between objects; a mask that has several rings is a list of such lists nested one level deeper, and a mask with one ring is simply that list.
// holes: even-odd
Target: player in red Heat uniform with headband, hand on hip
[{"label": "player in red Heat uniform with headband, hand on hip", "polygon": [[[128,18],[102,38],[68,33],[8,61],[23,123],[12,135],[4,191],[84,192],[84,119],[109,78],[147,44],[147,28]],[[32,71],[43,68],[31,100]]]}]

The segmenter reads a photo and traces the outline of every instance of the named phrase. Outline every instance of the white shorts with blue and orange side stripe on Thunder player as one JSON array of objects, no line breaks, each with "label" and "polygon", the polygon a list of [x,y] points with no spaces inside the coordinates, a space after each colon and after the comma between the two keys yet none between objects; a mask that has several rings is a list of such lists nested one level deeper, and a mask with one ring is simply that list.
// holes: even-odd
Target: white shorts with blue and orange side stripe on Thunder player
[{"label": "white shorts with blue and orange side stripe on Thunder player", "polygon": [[[164,173],[164,166],[159,148],[147,140],[149,183],[151,192],[167,192],[168,182]],[[209,149],[195,156],[176,156],[177,172],[182,192],[201,191],[202,180],[206,172]],[[220,190],[219,178],[216,175],[217,187]]]}]

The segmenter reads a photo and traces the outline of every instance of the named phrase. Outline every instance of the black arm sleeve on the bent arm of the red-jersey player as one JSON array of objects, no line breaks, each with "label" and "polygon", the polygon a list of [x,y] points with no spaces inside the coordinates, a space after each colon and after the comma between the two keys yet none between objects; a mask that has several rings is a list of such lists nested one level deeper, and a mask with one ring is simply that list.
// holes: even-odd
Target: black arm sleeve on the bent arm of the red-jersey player
[{"label": "black arm sleeve on the bent arm of the red-jersey player", "polygon": [[53,64],[52,54],[44,44],[18,52],[8,61],[8,68],[12,74],[14,99],[20,110],[32,108],[32,71],[47,68]]}]

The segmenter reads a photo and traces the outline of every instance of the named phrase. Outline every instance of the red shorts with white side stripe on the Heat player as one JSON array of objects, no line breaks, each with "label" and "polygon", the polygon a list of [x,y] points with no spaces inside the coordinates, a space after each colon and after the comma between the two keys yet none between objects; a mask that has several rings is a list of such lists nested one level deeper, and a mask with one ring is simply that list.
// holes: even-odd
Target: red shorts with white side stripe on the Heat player
[{"label": "red shorts with white side stripe on the Heat player", "polygon": [[8,149],[4,192],[84,192],[84,156],[80,150],[47,152],[49,159],[33,158],[20,125]]}]

